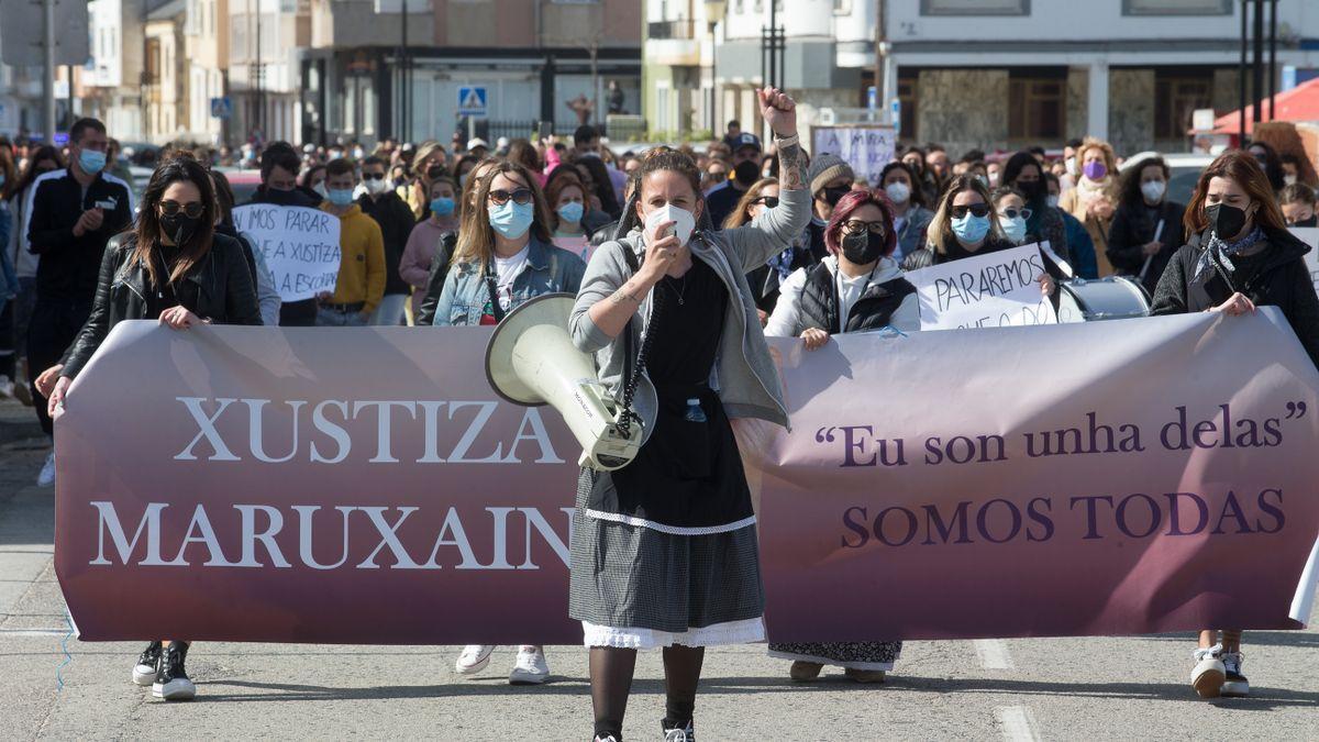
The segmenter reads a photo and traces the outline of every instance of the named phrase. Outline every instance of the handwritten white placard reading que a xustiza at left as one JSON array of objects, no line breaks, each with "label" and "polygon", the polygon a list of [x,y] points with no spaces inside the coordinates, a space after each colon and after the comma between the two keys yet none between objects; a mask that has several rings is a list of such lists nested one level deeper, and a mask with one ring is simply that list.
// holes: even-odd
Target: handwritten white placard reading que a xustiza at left
[{"label": "handwritten white placard reading que a xustiza at left", "polygon": [[282,301],[315,298],[339,280],[339,218],[306,206],[249,203],[233,210],[233,227],[265,256]]}]

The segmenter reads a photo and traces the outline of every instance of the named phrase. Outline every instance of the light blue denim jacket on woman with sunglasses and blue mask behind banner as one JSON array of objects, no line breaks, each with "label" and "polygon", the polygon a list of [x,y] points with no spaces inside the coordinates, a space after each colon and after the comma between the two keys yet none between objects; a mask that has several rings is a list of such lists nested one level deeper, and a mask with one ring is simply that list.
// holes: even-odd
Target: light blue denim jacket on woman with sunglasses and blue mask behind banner
[{"label": "light blue denim jacket on woman with sunglasses and blue mask behind banner", "polygon": [[[526,265],[513,279],[513,310],[522,302],[547,293],[576,293],[586,273],[586,263],[566,250],[545,244],[534,236],[528,244]],[[455,261],[448,268],[445,288],[435,305],[435,326],[480,325],[489,305],[483,265],[479,261]]]}]

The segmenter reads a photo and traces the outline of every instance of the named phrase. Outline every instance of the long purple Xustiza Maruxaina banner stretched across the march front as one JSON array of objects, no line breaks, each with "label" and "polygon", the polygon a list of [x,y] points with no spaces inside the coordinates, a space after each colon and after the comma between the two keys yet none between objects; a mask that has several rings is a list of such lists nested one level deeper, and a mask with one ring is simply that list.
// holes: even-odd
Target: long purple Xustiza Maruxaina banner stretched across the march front
[{"label": "long purple Xustiza Maruxaina banner stretched across the march front", "polygon": [[[580,449],[488,338],[119,323],[55,425],[80,636],[579,643]],[[737,421],[772,639],[1304,621],[1319,372],[1277,310],[772,351],[793,430]]]}]

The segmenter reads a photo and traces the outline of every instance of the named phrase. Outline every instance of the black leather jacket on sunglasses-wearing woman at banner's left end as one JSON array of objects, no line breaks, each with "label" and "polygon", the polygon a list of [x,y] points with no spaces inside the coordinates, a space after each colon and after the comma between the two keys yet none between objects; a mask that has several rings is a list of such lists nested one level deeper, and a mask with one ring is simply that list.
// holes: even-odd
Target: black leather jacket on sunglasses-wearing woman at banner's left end
[{"label": "black leather jacket on sunglasses-wearing woman at banner's left end", "polygon": [[[75,378],[109,334],[124,320],[148,320],[146,294],[150,279],[137,261],[131,261],[136,239],[131,232],[111,238],[100,260],[100,280],[91,317],[65,353],[61,376]],[[179,290],[181,302],[193,314],[216,325],[260,325],[261,308],[256,285],[233,238],[216,234],[211,250],[187,275],[195,290]]]}]

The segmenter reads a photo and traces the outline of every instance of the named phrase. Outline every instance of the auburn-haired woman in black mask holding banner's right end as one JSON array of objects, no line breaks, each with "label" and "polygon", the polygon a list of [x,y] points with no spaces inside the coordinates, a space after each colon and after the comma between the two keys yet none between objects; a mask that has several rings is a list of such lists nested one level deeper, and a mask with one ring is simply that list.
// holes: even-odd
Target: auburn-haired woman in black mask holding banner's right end
[{"label": "auburn-haired woman in black mask holding banner's right end", "polygon": [[[1277,306],[1319,363],[1319,297],[1304,263],[1310,246],[1287,231],[1273,185],[1249,153],[1224,152],[1200,173],[1183,224],[1190,238],[1163,271],[1150,314],[1235,317]],[[1241,630],[1200,631],[1194,659],[1191,687],[1202,698],[1249,694]]]}]

